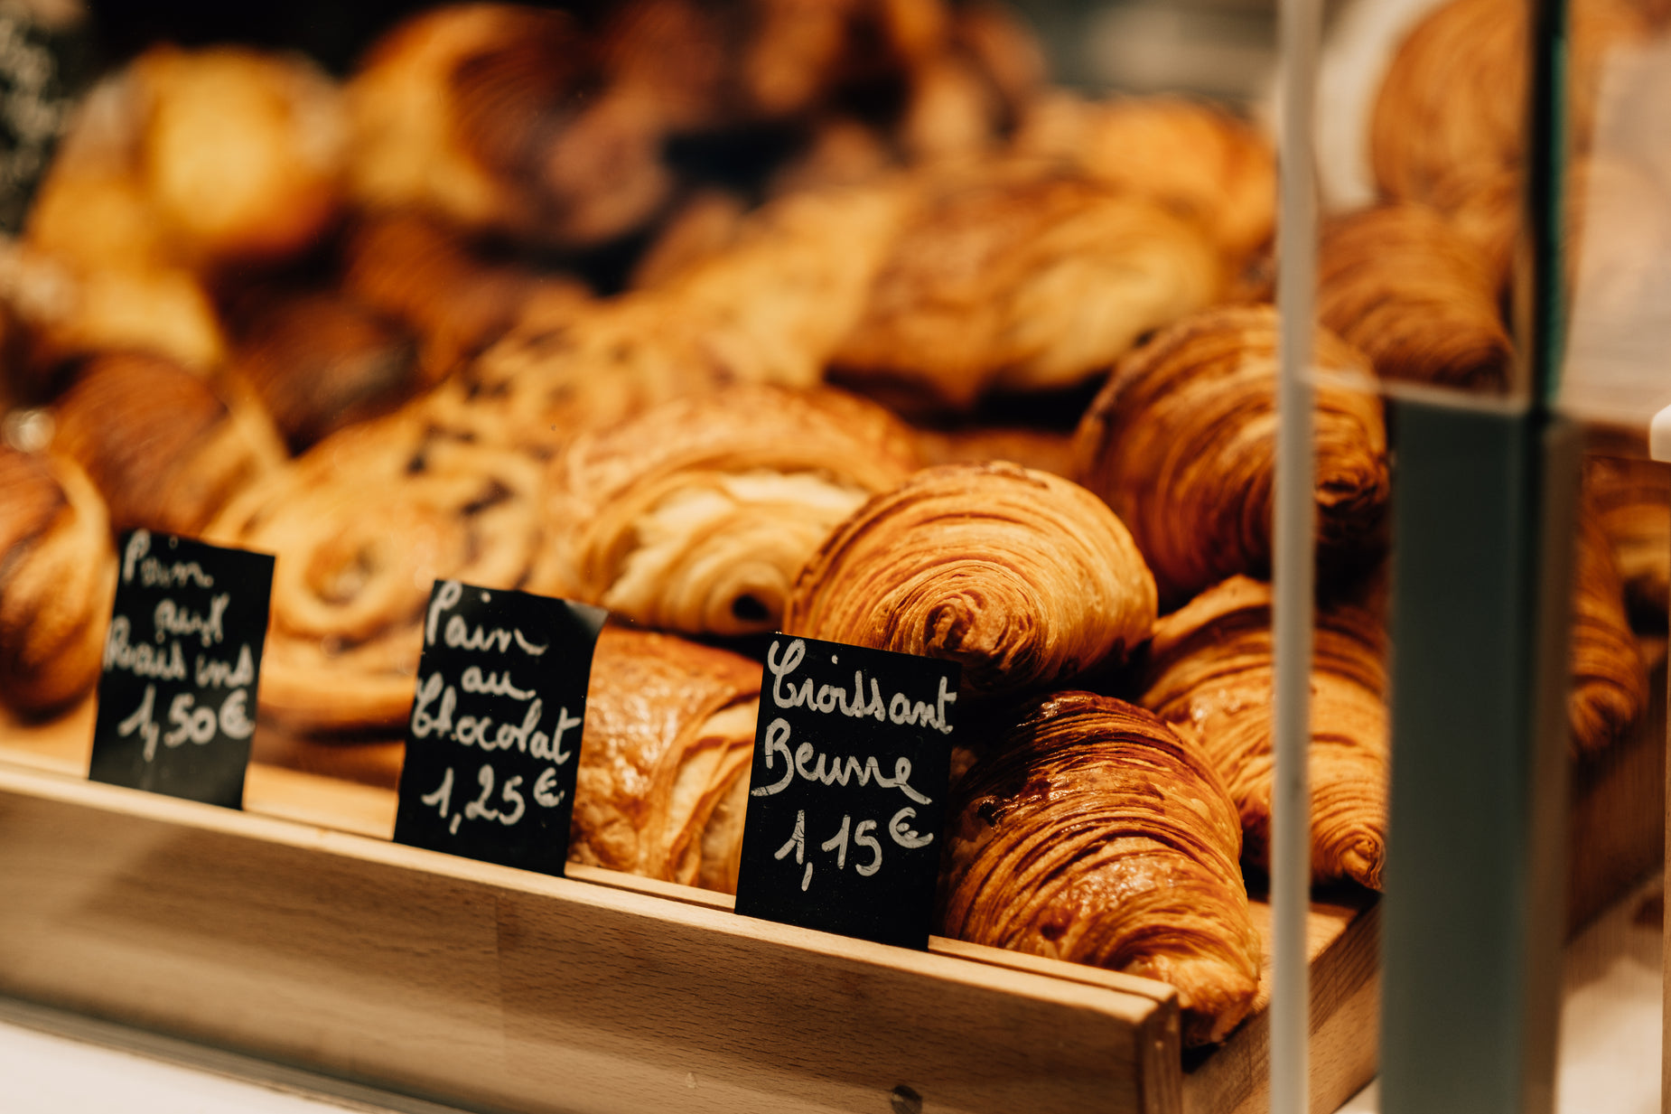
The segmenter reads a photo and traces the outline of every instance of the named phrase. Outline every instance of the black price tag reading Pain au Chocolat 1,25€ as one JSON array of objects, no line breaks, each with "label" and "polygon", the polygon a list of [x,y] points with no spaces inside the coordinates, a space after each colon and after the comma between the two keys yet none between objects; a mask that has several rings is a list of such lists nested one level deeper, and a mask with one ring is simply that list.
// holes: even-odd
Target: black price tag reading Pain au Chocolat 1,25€
[{"label": "black price tag reading Pain au Chocolat 1,25\u20ac", "polygon": [[394,841],[561,875],[592,651],[608,612],[436,580]]}]

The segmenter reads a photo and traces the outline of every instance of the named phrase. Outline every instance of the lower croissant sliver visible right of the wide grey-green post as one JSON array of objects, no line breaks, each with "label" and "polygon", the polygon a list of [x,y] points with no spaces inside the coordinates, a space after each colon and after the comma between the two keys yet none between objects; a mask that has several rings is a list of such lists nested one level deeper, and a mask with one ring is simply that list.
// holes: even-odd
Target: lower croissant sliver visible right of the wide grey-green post
[{"label": "lower croissant sliver visible right of the wide grey-green post", "polygon": [[1648,671],[1624,612],[1624,584],[1608,534],[1581,515],[1572,572],[1572,689],[1567,721],[1577,754],[1597,754],[1621,739],[1648,708]]}]

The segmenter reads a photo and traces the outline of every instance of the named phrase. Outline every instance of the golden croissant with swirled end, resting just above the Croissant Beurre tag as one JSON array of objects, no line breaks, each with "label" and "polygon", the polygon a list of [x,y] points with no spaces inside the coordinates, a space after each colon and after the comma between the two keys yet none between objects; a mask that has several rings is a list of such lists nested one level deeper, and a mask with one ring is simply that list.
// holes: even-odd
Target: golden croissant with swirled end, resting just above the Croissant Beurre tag
[{"label": "golden croissant with swirled end, resting just above the Croissant Beurre tag", "polygon": [[1153,622],[1155,579],[1108,505],[1003,462],[926,468],[872,498],[784,612],[785,634],[961,662],[978,694],[1120,662]]}]

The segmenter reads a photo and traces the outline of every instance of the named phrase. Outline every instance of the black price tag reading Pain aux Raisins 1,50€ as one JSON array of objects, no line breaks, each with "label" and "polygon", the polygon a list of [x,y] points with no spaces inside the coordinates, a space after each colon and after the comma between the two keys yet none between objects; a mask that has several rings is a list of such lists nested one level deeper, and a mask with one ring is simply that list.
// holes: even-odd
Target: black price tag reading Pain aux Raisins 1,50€
[{"label": "black price tag reading Pain aux Raisins 1,50\u20ac", "polygon": [[87,776],[242,808],[272,557],[120,537]]}]

